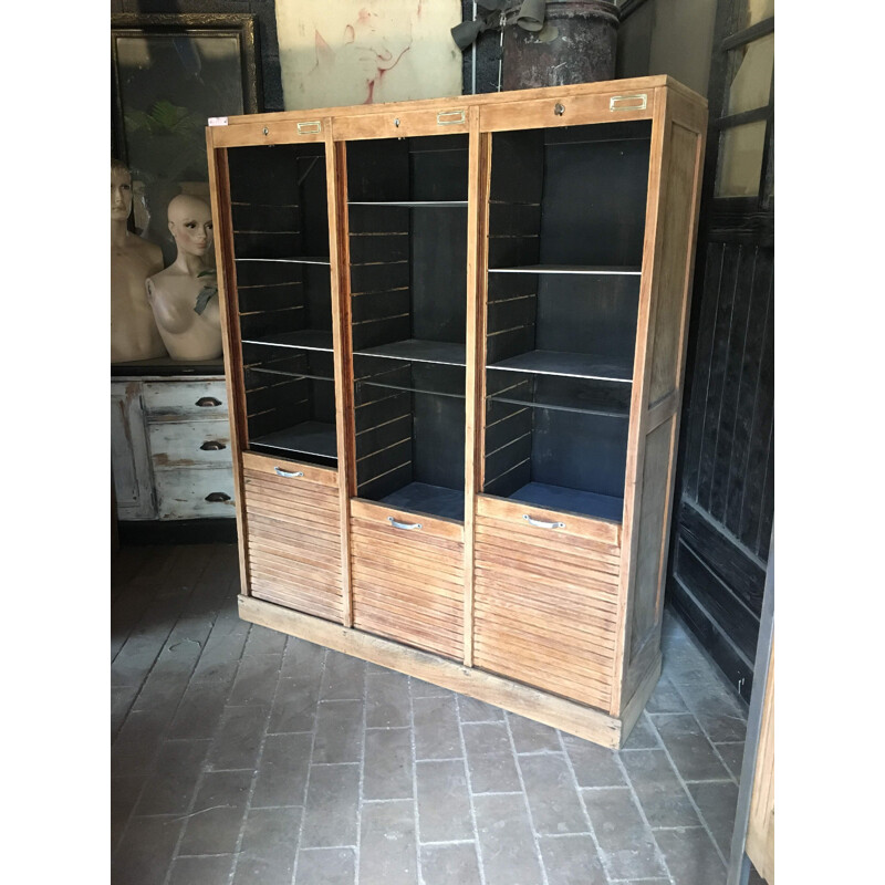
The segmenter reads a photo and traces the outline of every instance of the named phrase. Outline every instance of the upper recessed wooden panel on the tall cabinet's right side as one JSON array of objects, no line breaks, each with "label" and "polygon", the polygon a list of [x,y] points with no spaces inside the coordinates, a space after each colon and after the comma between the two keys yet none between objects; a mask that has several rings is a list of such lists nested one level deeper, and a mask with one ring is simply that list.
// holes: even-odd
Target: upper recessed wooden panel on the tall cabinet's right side
[{"label": "upper recessed wooden panel on the tall cabinet's right side", "polygon": [[701,137],[673,124],[671,148],[666,173],[667,200],[659,237],[659,258],[654,330],[652,333],[652,377],[648,404],[654,405],[679,385],[685,335],[685,310],[691,270],[689,246],[695,220],[693,192]]}]

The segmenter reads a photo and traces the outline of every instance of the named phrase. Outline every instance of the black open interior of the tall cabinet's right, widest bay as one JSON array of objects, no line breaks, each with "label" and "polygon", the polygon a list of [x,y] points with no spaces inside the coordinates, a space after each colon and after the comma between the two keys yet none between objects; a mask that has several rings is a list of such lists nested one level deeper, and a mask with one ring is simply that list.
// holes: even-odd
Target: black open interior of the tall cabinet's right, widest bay
[{"label": "black open interior of the tall cabinet's right, widest bay", "polygon": [[621,520],[650,123],[492,136],[483,491]]}]

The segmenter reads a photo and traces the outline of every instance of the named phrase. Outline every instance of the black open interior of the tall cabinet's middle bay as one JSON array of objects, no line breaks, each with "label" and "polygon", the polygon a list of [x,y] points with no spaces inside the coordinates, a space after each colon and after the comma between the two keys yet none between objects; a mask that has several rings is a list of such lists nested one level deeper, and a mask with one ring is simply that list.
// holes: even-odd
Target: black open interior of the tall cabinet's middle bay
[{"label": "black open interior of the tall cabinet's middle bay", "polygon": [[464,519],[466,135],[347,145],[357,496]]}]

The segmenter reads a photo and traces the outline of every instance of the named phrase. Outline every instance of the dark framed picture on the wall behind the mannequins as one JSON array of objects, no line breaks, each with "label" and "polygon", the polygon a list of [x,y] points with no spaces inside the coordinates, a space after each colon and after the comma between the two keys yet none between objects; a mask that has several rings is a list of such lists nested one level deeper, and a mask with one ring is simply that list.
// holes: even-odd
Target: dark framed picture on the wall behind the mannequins
[{"label": "dark framed picture on the wall behind the mannequins", "polygon": [[208,199],[208,118],[261,110],[256,55],[252,14],[111,17],[112,153],[132,173],[136,228],[167,261],[169,200]]}]

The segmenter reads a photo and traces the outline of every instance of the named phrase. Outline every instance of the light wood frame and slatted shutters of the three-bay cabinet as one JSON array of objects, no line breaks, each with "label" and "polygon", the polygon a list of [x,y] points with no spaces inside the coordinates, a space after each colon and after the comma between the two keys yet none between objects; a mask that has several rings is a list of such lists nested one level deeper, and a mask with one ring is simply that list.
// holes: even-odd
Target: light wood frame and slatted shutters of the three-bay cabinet
[{"label": "light wood frame and slatted shutters of the three-bay cabinet", "polygon": [[[644,110],[612,112],[613,96],[636,94],[646,96]],[[459,114],[448,116],[457,119],[452,124],[438,116],[460,108],[464,122]],[[321,132],[298,135],[298,122],[311,119],[320,122]],[[480,490],[490,133],[631,119],[652,121],[652,144],[622,523]],[[243,499],[238,501],[246,539],[243,587],[249,593],[251,568],[251,592],[261,597],[241,598],[247,620],[604,746],[623,742],[660,667],[662,576],[705,128],[706,102],[664,76],[232,117],[228,126],[212,127],[207,139],[215,150],[221,257],[227,249],[229,258],[231,233],[225,152],[217,148],[313,139],[326,149],[339,470],[242,452],[243,392],[239,381],[228,384],[231,447]],[[462,523],[355,497],[346,180],[351,139],[457,132],[466,133],[469,144]],[[229,373],[240,378],[236,274],[226,261],[226,358]],[[277,466],[304,476],[287,481],[275,476]],[[527,513],[565,527],[532,527],[523,519]],[[391,518],[421,528],[396,529]]]}]

